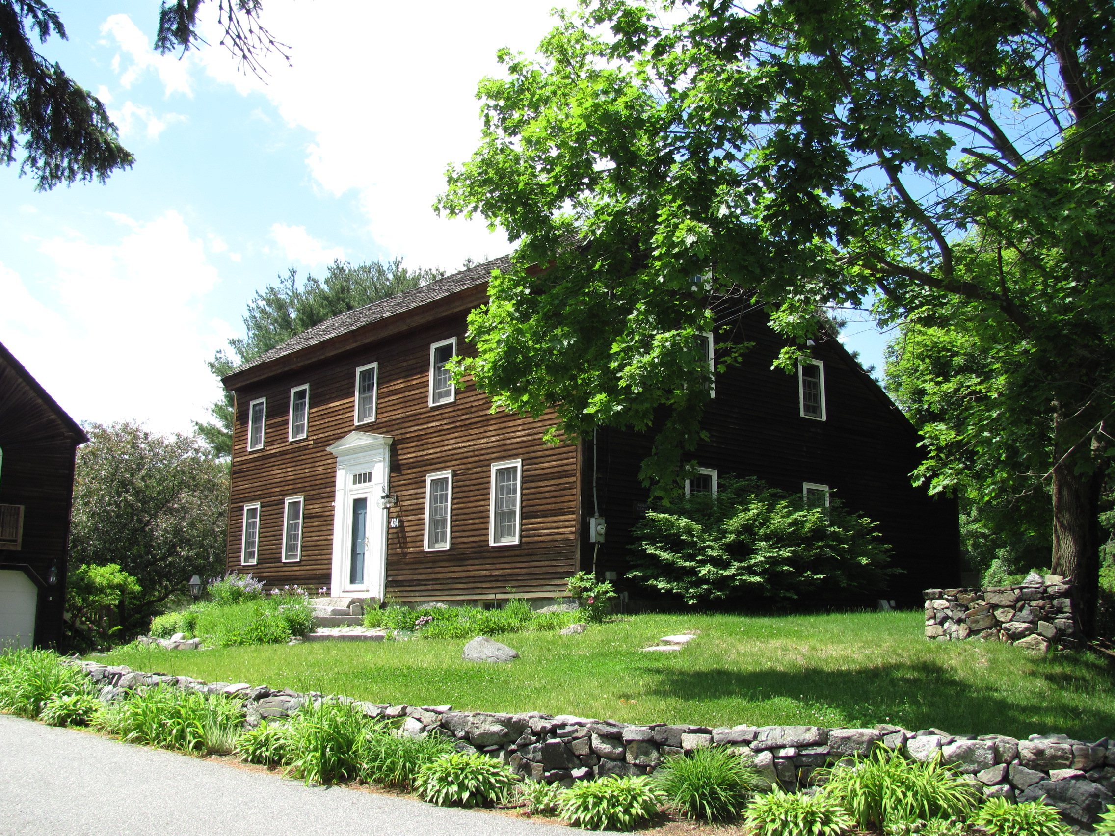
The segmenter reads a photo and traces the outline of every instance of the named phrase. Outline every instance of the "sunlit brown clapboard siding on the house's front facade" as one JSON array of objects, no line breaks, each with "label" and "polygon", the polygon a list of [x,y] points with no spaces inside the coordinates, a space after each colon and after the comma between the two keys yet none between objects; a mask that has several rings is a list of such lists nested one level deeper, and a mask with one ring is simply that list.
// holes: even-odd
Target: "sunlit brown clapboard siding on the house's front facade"
[{"label": "sunlit brown clapboard siding on the house's front facade", "polygon": [[[475,295],[475,294],[472,294]],[[387,594],[399,600],[552,595],[576,571],[575,445],[542,441],[550,426],[489,414],[485,395],[466,386],[453,404],[428,406],[430,343],[457,338],[469,356],[465,317],[472,295],[430,304],[446,315],[388,339],[368,342],[236,391],[236,424],[229,518],[229,566],[240,566],[243,506],[261,504],[259,562],[253,573],[270,585],[327,586],[332,563],[336,458],[328,447],[353,429],[390,436],[390,489],[398,505],[388,528]],[[387,323],[388,325],[390,323]],[[387,330],[387,325],[385,325]],[[356,369],[377,362],[376,419],[355,424]],[[289,359],[284,360],[290,366]],[[309,383],[309,436],[289,441],[290,389]],[[248,409],[266,398],[264,449],[249,453]],[[488,545],[491,465],[522,459],[522,536],[515,546]],[[426,475],[453,472],[450,547],[423,548]],[[302,560],[282,563],[283,500],[306,497]]]}]

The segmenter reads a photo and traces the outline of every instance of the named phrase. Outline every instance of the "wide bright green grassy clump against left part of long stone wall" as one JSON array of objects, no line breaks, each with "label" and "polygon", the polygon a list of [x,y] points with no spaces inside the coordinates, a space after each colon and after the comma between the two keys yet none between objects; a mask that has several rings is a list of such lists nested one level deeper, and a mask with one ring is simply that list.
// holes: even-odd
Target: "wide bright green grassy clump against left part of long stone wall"
[{"label": "wide bright green grassy clump against left part of long stone wall", "polygon": [[125,742],[193,755],[230,751],[242,725],[240,704],[227,697],[162,687],[136,691],[98,718]]}]

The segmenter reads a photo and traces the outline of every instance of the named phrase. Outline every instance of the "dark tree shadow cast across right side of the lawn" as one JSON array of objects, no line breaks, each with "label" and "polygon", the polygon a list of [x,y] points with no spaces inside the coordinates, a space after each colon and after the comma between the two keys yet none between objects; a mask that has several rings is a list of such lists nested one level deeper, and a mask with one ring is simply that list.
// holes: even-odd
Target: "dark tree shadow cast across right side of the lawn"
[{"label": "dark tree shadow cast across right side of the lawn", "polygon": [[[853,727],[871,727],[890,718],[890,722],[911,730],[939,728],[957,735],[998,733],[1022,739],[1056,732],[1095,740],[1115,732],[1115,700],[1106,674],[1097,671],[1099,675],[1089,678],[1064,670],[1051,660],[1038,667],[1032,673],[1017,673],[1019,686],[1014,693],[1010,682],[1001,678],[995,682],[990,677],[987,682],[964,680],[932,661],[838,672],[820,668],[658,669],[653,672],[657,683],[648,690],[665,699],[695,702],[788,699],[832,709],[844,718],[844,725]],[[1039,678],[1043,687],[1025,687],[1021,680],[1027,677]],[[1067,689],[1069,682],[1072,690]]]}]

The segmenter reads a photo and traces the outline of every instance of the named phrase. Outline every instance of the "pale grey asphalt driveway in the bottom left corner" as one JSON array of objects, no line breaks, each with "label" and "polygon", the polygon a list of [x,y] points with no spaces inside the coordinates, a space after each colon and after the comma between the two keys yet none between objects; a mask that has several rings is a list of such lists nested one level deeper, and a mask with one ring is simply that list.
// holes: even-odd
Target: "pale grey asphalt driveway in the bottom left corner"
[{"label": "pale grey asphalt driveway in the bottom left corner", "polygon": [[570,836],[0,715],[0,836]]}]

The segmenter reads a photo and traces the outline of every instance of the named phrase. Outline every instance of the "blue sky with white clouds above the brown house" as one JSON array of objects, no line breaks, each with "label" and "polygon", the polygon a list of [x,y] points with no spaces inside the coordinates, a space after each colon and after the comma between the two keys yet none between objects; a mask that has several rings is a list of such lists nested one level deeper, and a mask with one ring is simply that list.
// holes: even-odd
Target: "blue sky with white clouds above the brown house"
[{"label": "blue sky with white clouds above the brown house", "polygon": [[[508,250],[429,207],[476,146],[476,82],[498,47],[533,49],[553,0],[266,0],[292,56],[268,62],[266,84],[219,46],[154,54],[155,0],[52,4],[69,41],[42,52],[101,97],[136,155],[105,185],[48,193],[0,167],[0,342],[75,418],[190,431],[220,393],[205,361],[291,266],[453,270]],[[873,329],[847,332],[881,364]]]}]

